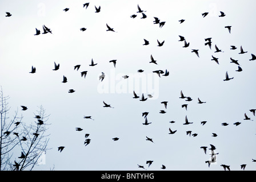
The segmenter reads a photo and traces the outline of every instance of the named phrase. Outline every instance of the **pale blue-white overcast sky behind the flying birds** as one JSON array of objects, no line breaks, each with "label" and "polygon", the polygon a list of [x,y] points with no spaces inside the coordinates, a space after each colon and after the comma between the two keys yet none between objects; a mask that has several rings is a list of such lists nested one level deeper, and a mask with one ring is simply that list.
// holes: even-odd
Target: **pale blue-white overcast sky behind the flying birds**
[{"label": "pale blue-white overcast sky behind the flying birds", "polygon": [[[87,9],[86,2],[90,2]],[[137,13],[137,5],[147,18]],[[101,11],[95,13],[94,6],[101,6]],[[249,61],[251,53],[256,55],[254,7],[249,0],[1,1],[3,93],[10,96],[12,112],[18,109],[23,122],[33,122],[40,105],[50,114],[51,150],[35,169],[144,170],[139,164],[162,170],[163,164],[166,170],[223,170],[220,165],[226,164],[241,170],[240,165],[247,164],[246,170],[255,170],[256,119],[249,111],[256,109],[256,62]],[[6,11],[12,16],[6,17]],[[220,11],[226,16],[219,17]],[[205,12],[209,14],[203,18]],[[154,17],[165,25],[154,24]],[[106,31],[106,23],[116,32]],[[53,34],[42,34],[43,25]],[[230,33],[225,26],[231,26]],[[80,30],[83,27],[86,31]],[[35,28],[40,35],[34,35]],[[183,47],[179,35],[189,47]],[[211,49],[205,46],[206,38],[212,38]],[[143,46],[143,39],[149,45]],[[165,40],[162,47],[157,40]],[[215,44],[223,52],[215,52]],[[241,46],[247,53],[239,54]],[[198,49],[199,57],[191,49]],[[151,55],[158,65],[149,63]],[[219,64],[211,56],[218,57]],[[236,71],[238,65],[230,63],[230,57],[238,60],[242,72]],[[91,59],[98,64],[90,67]],[[110,60],[117,60],[115,68]],[[60,64],[58,71],[52,70],[54,61]],[[81,67],[75,71],[77,64]],[[29,73],[32,66],[37,69],[34,74]],[[166,69],[169,76],[153,73]],[[82,71],[87,71],[86,78],[81,77]],[[106,77],[101,82],[102,72]],[[223,81],[226,72],[234,78]],[[69,89],[75,92],[68,93]],[[153,97],[139,101],[133,98],[133,90],[139,97],[142,93]],[[193,100],[179,98],[181,90]],[[198,97],[206,103],[198,104]],[[114,108],[103,107],[103,101]],[[167,109],[162,101],[168,101]],[[183,104],[188,104],[187,110]],[[29,109],[21,111],[21,105]],[[142,125],[145,111],[151,122],[147,126]],[[245,113],[254,121],[243,120]],[[193,124],[183,125],[186,116]],[[207,122],[202,126],[201,121]],[[222,126],[223,122],[229,125]],[[171,135],[169,128],[177,132]],[[189,130],[198,135],[189,137]],[[91,139],[87,146],[83,144],[86,133]],[[115,137],[119,140],[113,141]],[[219,154],[208,167],[210,150],[205,154],[200,147],[210,148],[210,144]],[[61,153],[59,146],[65,146]],[[147,160],[154,161],[150,167]]]}]

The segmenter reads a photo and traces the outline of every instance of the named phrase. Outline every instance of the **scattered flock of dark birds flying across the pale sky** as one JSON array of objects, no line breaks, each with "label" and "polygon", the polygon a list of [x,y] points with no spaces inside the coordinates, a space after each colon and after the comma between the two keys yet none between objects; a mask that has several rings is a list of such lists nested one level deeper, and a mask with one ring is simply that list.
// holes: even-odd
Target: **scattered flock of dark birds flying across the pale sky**
[{"label": "scattered flock of dark birds flying across the pale sky", "polygon": [[[87,9],[87,7],[89,7],[89,4],[90,4],[90,3],[85,3],[85,4],[83,4],[83,7],[85,7],[85,8]],[[142,10],[141,7],[139,7],[139,5],[137,6],[137,8],[138,8],[137,14],[130,15],[130,18],[133,18],[133,19],[134,19],[134,18],[137,18],[138,14],[141,14],[141,15],[142,15],[142,16],[141,16],[141,19],[147,18],[146,11]],[[66,8],[66,9],[64,9],[63,11],[67,12],[67,11],[69,11],[69,8]],[[101,6],[98,6],[98,7],[95,6],[95,13],[99,13],[99,12],[101,12]],[[206,13],[202,13],[202,17],[205,18],[208,14],[209,14],[209,13],[207,13],[207,12],[206,12]],[[11,13],[6,12],[6,17],[10,17],[10,16],[11,16]],[[226,16],[225,13],[223,13],[223,12],[221,11],[219,17],[221,18],[221,17],[224,17],[224,16]],[[181,19],[181,20],[178,20],[178,21],[179,21],[179,23],[183,23],[183,22],[185,22],[185,19]],[[154,24],[159,24],[159,28],[162,28],[162,27],[165,25],[166,22],[161,21],[161,20],[160,20],[159,18],[157,18],[157,17],[154,17],[153,23],[154,23]],[[106,31],[116,32],[116,31],[114,31],[114,28],[111,28],[108,24],[106,24],[106,27],[107,27],[107,30],[106,30]],[[227,30],[228,30],[229,33],[231,34],[231,26],[225,26],[225,28],[227,28]],[[80,30],[81,30],[81,31],[86,31],[87,28],[82,27]],[[43,25],[43,32],[41,32],[41,31],[38,30],[37,28],[35,28],[35,31],[36,31],[36,32],[35,32],[34,35],[36,35],[36,36],[38,36],[38,35],[40,35],[40,34],[48,34],[48,33],[53,34],[53,32],[51,31],[51,29],[48,28],[48,27],[46,27],[45,25]],[[179,41],[179,42],[184,42],[183,48],[187,48],[187,47],[190,46],[190,43],[187,42],[187,40],[185,39],[184,36],[181,36],[181,35],[178,35],[178,36],[179,36],[179,38],[180,38],[178,41]],[[212,39],[212,38],[206,38],[206,39],[205,39],[205,46],[209,46],[210,49],[211,49],[211,45],[212,45],[212,43],[213,43],[213,42],[211,41],[211,39]],[[143,40],[144,40],[144,42],[145,42],[144,44],[142,44],[143,46],[149,45],[149,41],[148,41],[148,40],[146,40],[146,39],[143,39]],[[161,47],[161,46],[163,46],[163,44],[165,43],[165,41],[163,40],[162,42],[159,42],[159,40],[157,40],[157,43],[158,43],[158,47]],[[217,52],[223,52],[221,49],[218,48],[218,46],[217,46],[216,44],[215,44],[214,48],[215,48],[215,51],[214,51],[215,53],[217,53]],[[235,47],[235,46],[230,46],[230,49],[235,50],[235,49],[237,49],[237,47]],[[195,55],[197,55],[197,56],[199,57],[199,49],[191,49],[191,52],[195,53]],[[239,54],[244,54],[244,53],[247,53],[247,51],[243,51],[243,48],[242,48],[242,46],[241,46],[241,47],[240,47],[240,52],[239,52]],[[213,55],[212,55],[211,57],[212,57],[211,60],[213,60],[213,61],[215,61],[215,63],[219,64],[218,57],[215,57],[215,56],[213,56]],[[237,72],[241,72],[241,71],[242,71],[242,68],[241,68],[241,66],[240,66],[239,63],[238,63],[238,60],[235,60],[235,59],[233,59],[232,57],[230,57],[230,60],[231,60],[230,63],[234,63],[234,64],[238,65],[238,70],[237,70]],[[256,60],[256,56],[255,56],[253,53],[251,53],[251,59],[250,59],[250,61],[253,61],[253,60]],[[109,63],[111,63],[111,64],[113,63],[114,68],[115,68],[115,65],[117,64],[117,60],[110,60]],[[151,56],[150,56],[150,62],[149,62],[149,63],[157,64],[157,60],[155,60],[154,57],[151,55]],[[93,59],[91,59],[91,64],[90,64],[91,67],[94,67],[94,66],[97,65],[97,64],[98,64],[98,63],[94,63]],[[74,65],[74,71],[75,71],[75,70],[78,71],[80,67],[81,67],[81,65]],[[53,71],[58,71],[59,68],[60,68],[60,65],[54,62]],[[141,73],[141,72],[143,72],[143,70],[142,70],[142,69],[139,69],[138,72]],[[36,68],[35,68],[34,66],[32,66],[32,67],[31,67],[31,71],[30,71],[29,73],[36,73]],[[157,75],[158,75],[159,77],[161,77],[161,76],[169,76],[169,71],[167,71],[167,69],[166,69],[165,71],[156,70],[156,71],[153,71],[153,73],[157,73]],[[87,75],[87,71],[82,71],[82,72],[81,72],[81,77],[86,77],[86,75]],[[99,76],[99,80],[100,80],[100,81],[103,81],[104,78],[105,78],[105,73],[102,72],[102,75]],[[123,78],[127,79],[127,78],[129,78],[129,76],[126,75],[126,76],[123,76]],[[232,80],[233,78],[234,78],[234,77],[229,77],[228,73],[226,72],[226,75],[225,75],[225,78],[223,79],[223,81],[229,81],[229,80]],[[67,77],[66,77],[66,76],[63,76],[63,81],[62,81],[62,82],[63,82],[63,83],[66,83],[66,82],[67,82]],[[69,92],[69,93],[74,93],[75,90],[74,90],[74,89],[70,89],[68,92]],[[134,99],[139,99],[139,101],[146,101],[146,100],[147,100],[147,97],[145,97],[143,93],[142,93],[142,96],[141,96],[141,97],[139,97],[135,92],[133,92],[133,94],[134,94],[134,97],[133,97]],[[191,97],[189,97],[189,96],[184,96],[184,94],[182,93],[182,90],[181,90],[181,93],[180,93],[180,94],[181,94],[181,96],[180,96],[179,98],[185,100],[186,102],[190,102],[190,101],[193,100],[193,99],[192,99]],[[148,96],[149,96],[149,97],[152,97],[151,95],[148,95]],[[167,109],[167,103],[168,103],[168,101],[162,101],[162,102],[161,102],[161,104],[164,105],[165,109]],[[201,101],[201,100],[198,98],[198,104],[205,104],[205,103],[206,103],[205,101]],[[187,106],[188,106],[188,104],[183,104],[183,105],[182,105],[182,108],[184,107],[184,108],[187,110]],[[21,107],[22,107],[22,110],[27,110],[27,107],[26,107],[26,106],[21,106]],[[103,101],[103,107],[111,107],[111,108],[114,108],[114,107],[112,107],[110,104],[107,104],[105,101]],[[253,115],[255,116],[255,111],[256,111],[256,109],[250,109],[249,111],[250,111],[251,113],[253,113]],[[165,110],[160,110],[159,113],[165,114],[166,111],[165,111]],[[150,125],[150,124],[151,124],[151,122],[149,122],[149,121],[147,120],[147,115],[148,115],[148,114],[149,114],[148,112],[142,113],[142,117],[144,117],[144,119],[145,119],[145,122],[142,123],[143,125]],[[244,115],[245,115],[244,120],[253,121],[250,117],[247,116],[246,113],[245,113]],[[35,118],[38,119],[38,125],[42,125],[42,124],[43,124],[43,121],[40,120],[40,117],[39,117],[39,116],[36,116]],[[93,118],[91,118],[91,116],[84,116],[83,118],[94,120]],[[202,121],[201,124],[202,124],[202,125],[205,125],[206,122],[207,122],[207,121]],[[174,123],[174,121],[171,121],[170,123]],[[193,124],[193,122],[189,122],[189,120],[187,119],[187,115],[186,115],[186,117],[185,117],[185,122],[183,123],[183,125],[191,125],[191,124]],[[240,125],[240,124],[241,124],[241,122],[235,122],[235,123],[234,123],[235,126],[238,126],[238,125]],[[222,123],[222,126],[227,126],[227,125],[229,125],[229,123],[226,123],[226,122],[225,122],[225,123]],[[77,127],[77,128],[75,128],[75,130],[76,130],[76,131],[82,131],[83,129],[82,129],[81,127]],[[176,132],[177,132],[177,130],[171,130],[171,128],[169,128],[169,134],[170,134],[170,135],[173,135],[173,134],[175,134]],[[9,134],[9,133],[7,133],[7,131],[6,131],[5,134],[7,135],[7,134]],[[85,146],[87,146],[87,145],[90,144],[90,142],[91,142],[91,139],[88,138],[89,135],[90,135],[90,134],[88,134],[88,133],[85,134],[85,142],[84,142]],[[198,134],[197,134],[197,133],[192,133],[192,131],[186,131],[186,135],[189,135],[189,136],[192,135],[193,137],[197,137]],[[217,135],[216,133],[213,133],[212,136],[213,136],[213,137],[217,137],[218,135]],[[112,139],[113,139],[113,141],[119,140],[118,137],[115,137],[115,138],[112,138]],[[146,140],[148,140],[149,142],[154,143],[154,141],[153,141],[152,138],[146,137]],[[65,146],[59,146],[59,147],[58,147],[58,151],[59,151],[59,152],[62,152],[62,151],[64,150],[64,148],[65,148]],[[219,153],[216,153],[216,152],[215,152],[216,147],[215,147],[213,144],[210,144],[210,147],[201,146],[200,148],[203,149],[203,152],[204,152],[205,154],[206,154],[207,148],[211,151],[211,160],[206,160],[206,161],[205,161],[205,163],[210,167],[210,164],[211,164],[211,163],[216,162],[216,156],[219,154]],[[23,155],[24,155],[24,154],[22,153],[22,156],[23,156]],[[19,158],[22,158],[22,156],[19,157]],[[253,159],[253,162],[256,162],[256,160]],[[16,163],[16,162],[15,162],[15,163]],[[153,160],[147,160],[147,161],[146,161],[146,164],[148,164],[148,167],[150,167],[152,163],[153,163]],[[15,165],[16,165],[16,164],[15,164]],[[139,164],[137,164],[137,165],[138,165],[139,168],[145,169],[144,166],[139,165]],[[228,165],[226,165],[226,164],[221,164],[221,166],[223,167],[223,169],[224,169],[225,171],[226,171],[226,170],[230,170],[230,166],[228,166]],[[246,164],[241,164],[241,169],[244,170],[245,167],[246,167]],[[166,169],[166,166],[162,164],[161,169]]]}]

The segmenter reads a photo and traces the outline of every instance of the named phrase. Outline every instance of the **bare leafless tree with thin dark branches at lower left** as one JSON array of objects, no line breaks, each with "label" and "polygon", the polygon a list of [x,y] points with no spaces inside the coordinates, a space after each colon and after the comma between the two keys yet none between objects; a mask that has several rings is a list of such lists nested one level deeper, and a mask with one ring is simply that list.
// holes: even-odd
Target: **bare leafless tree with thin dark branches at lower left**
[{"label": "bare leafless tree with thin dark branches at lower left", "polygon": [[[0,171],[7,170],[32,170],[38,165],[39,159],[49,148],[49,135],[46,134],[49,115],[39,106],[34,114],[36,121],[27,124],[23,117],[18,117],[18,110],[12,119],[8,117],[10,107],[9,96],[3,96],[0,90]],[[14,150],[15,149],[15,150]],[[18,155],[17,156],[17,151]]]}]

